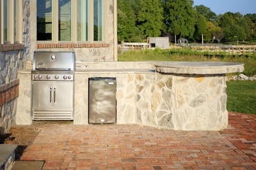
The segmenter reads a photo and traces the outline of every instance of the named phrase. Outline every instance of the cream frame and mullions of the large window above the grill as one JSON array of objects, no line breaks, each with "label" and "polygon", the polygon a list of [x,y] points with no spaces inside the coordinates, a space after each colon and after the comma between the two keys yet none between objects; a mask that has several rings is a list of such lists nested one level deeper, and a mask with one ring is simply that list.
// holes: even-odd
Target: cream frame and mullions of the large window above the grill
[{"label": "cream frame and mullions of the large window above the grill", "polygon": [[[40,1],[40,0],[37,0]],[[77,40],[77,1],[71,0],[71,11],[72,11],[72,21],[71,21],[71,40],[70,41],[60,41],[59,36],[59,25],[58,25],[58,0],[52,1],[52,39],[51,40],[37,40],[37,43],[106,43],[108,42],[108,1],[104,0],[102,4],[102,19],[104,20],[104,28],[102,29],[102,41],[94,41],[94,23],[93,23],[93,2],[94,0],[88,0],[88,41],[78,41]],[[37,2],[36,2],[37,3]],[[37,15],[37,10],[36,10]],[[37,21],[36,21],[37,27]],[[37,34],[37,29],[36,29]]]}]

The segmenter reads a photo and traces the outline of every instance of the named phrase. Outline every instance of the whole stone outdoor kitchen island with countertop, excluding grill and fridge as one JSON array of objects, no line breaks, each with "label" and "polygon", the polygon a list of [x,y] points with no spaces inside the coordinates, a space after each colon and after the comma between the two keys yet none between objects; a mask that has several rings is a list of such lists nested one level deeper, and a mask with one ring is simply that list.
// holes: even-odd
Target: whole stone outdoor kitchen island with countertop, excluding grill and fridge
[{"label": "whole stone outdoor kitchen island with countertop, excluding grill and fridge", "polygon": [[[108,77],[116,78],[116,124],[219,131],[228,125],[226,74],[243,69],[231,62],[77,61],[73,121],[88,124],[88,79]],[[22,93],[19,103],[29,97]],[[32,124],[28,117],[18,106],[17,124]]]}]

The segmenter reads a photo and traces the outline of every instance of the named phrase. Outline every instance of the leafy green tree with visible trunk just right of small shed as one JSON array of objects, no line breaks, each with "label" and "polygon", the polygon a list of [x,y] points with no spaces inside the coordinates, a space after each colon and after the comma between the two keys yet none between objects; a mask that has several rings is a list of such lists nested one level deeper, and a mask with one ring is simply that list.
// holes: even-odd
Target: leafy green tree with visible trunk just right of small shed
[{"label": "leafy green tree with visible trunk just right of small shed", "polygon": [[196,22],[193,0],[164,0],[163,3],[166,32],[171,32],[175,37],[192,38]]}]

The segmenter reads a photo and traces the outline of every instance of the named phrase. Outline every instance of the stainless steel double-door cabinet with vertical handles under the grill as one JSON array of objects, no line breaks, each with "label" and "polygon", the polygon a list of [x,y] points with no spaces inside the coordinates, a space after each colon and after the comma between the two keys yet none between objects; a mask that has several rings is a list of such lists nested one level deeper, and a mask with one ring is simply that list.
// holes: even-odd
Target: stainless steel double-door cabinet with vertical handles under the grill
[{"label": "stainless steel double-door cabinet with vertical handles under the grill", "polygon": [[33,81],[32,118],[72,120],[73,88],[73,81]]}]

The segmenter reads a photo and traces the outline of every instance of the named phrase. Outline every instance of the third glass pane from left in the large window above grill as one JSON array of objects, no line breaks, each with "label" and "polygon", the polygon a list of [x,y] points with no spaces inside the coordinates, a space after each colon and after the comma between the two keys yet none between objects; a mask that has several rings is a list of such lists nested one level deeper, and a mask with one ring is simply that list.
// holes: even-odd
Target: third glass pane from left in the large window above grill
[{"label": "third glass pane from left in the large window above grill", "polygon": [[88,41],[88,0],[77,0],[77,41]]}]

